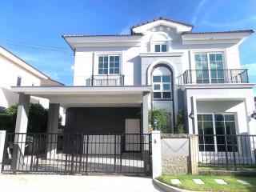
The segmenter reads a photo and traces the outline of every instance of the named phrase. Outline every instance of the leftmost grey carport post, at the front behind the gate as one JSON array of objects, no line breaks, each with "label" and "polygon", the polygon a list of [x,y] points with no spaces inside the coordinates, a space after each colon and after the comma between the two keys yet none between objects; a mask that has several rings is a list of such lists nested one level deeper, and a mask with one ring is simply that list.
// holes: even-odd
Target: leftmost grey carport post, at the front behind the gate
[{"label": "leftmost grey carport post, at the front behind the gate", "polygon": [[12,158],[12,170],[18,170],[23,165],[26,146],[26,130],[30,110],[30,95],[19,94],[18,113],[15,126],[15,138]]}]

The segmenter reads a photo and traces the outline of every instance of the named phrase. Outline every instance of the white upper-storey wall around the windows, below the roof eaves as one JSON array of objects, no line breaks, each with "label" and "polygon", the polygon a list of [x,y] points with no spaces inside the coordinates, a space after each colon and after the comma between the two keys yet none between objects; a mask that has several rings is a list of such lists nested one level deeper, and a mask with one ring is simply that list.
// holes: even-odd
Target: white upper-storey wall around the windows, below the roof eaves
[{"label": "white upper-storey wall around the windows, below the roof eaves", "polygon": [[[160,27],[161,30],[160,30]],[[154,29],[154,30],[153,30]],[[144,85],[141,81],[142,75],[146,74],[141,68],[142,53],[154,53],[154,44],[168,42],[169,53],[180,53],[181,59],[177,56],[154,57],[157,64],[164,60],[170,60],[170,65],[174,67],[174,77],[185,72],[185,70],[194,70],[194,54],[222,52],[224,56],[224,68],[240,69],[240,58],[238,43],[209,43],[209,44],[182,44],[182,34],[177,34],[174,29],[167,29],[165,26],[157,26],[147,30],[141,38],[141,42],[134,45],[126,45],[125,43],[117,44],[109,42],[108,44],[95,44],[94,46],[78,46],[75,50],[74,58],[74,86],[89,86],[86,82],[87,78],[92,75],[94,66],[94,75],[98,74],[98,55],[101,54],[120,54],[121,55],[121,74],[125,75],[125,85]],[[157,53],[159,54],[159,53]],[[161,54],[161,53],[160,53]],[[142,71],[141,71],[142,69]]]}]

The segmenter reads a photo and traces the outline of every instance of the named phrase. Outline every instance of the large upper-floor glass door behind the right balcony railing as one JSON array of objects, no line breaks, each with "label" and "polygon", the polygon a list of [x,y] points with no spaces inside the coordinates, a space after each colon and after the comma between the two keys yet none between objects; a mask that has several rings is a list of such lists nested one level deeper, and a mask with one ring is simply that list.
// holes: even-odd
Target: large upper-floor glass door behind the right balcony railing
[{"label": "large upper-floor glass door behind the right balcony railing", "polygon": [[223,83],[224,57],[223,53],[194,54],[197,83]]}]

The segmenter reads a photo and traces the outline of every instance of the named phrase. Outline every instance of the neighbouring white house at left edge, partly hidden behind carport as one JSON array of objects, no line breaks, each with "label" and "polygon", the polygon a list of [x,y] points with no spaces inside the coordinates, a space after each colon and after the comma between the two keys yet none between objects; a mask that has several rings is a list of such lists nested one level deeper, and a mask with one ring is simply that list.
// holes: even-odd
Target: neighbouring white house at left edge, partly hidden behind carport
[{"label": "neighbouring white house at left edge, partly hidden behind carport", "polygon": [[[0,69],[0,110],[18,103],[18,94],[10,90],[11,86],[63,86],[2,46]],[[32,96],[30,102],[49,107],[49,100],[46,98]]]}]

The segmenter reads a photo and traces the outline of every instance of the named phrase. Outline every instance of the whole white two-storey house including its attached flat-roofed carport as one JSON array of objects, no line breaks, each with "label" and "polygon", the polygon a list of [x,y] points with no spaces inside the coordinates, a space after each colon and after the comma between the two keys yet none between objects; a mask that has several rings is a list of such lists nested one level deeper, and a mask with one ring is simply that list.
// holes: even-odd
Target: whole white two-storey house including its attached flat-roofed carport
[{"label": "whole white two-storey house including its attached flat-roofed carport", "polygon": [[[19,94],[23,109],[18,111],[16,131],[26,132],[27,101],[36,96],[50,100],[49,133],[56,133],[59,107],[66,108],[64,133],[79,135],[64,135],[62,142],[73,146],[79,157],[81,151],[118,153],[118,160],[104,158],[110,164],[114,162],[114,168],[108,168],[110,172],[117,171],[115,163],[120,158],[122,164],[122,152],[133,153],[133,157],[126,154],[128,162],[130,158],[138,160],[134,152],[144,153],[144,160],[149,157],[145,144],[150,145],[150,140],[141,135],[149,133],[148,111],[153,108],[168,111],[169,133],[174,132],[178,111],[183,111],[186,132],[199,135],[198,150],[204,152],[201,158],[213,151],[219,154],[225,150],[226,157],[237,152],[242,142],[228,139],[226,145],[227,139],[218,135],[256,134],[256,121],[251,118],[254,83],[241,68],[238,49],[254,31],[193,32],[193,27],[158,18],[132,26],[130,34],[63,35],[74,51],[74,86],[13,86],[11,90]],[[129,134],[138,135],[129,138]],[[60,138],[52,139],[50,143],[55,145],[47,148],[47,154],[54,155]],[[105,148],[106,143],[109,148]],[[233,144],[235,148],[230,147]],[[239,151],[243,154],[243,149]],[[218,157],[210,160],[219,161]],[[198,161],[204,162],[201,158]],[[247,158],[252,159],[252,154]],[[97,168],[100,160],[96,159]],[[87,171],[88,161],[86,156],[86,168],[79,166],[79,170]],[[140,168],[148,170],[148,162],[139,162],[146,163]],[[89,166],[96,170],[95,158]],[[100,167],[98,171],[106,170],[102,164]]]}]

